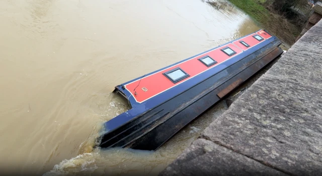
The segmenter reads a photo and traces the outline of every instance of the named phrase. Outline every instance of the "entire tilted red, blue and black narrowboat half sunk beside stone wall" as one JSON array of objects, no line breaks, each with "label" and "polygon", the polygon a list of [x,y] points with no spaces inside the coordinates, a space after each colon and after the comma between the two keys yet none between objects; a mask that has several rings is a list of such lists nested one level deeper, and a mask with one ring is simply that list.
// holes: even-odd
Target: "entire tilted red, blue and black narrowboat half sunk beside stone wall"
[{"label": "entire tilted red, blue and black narrowboat half sunk beside stone wall", "polygon": [[131,109],[104,124],[99,146],[156,150],[278,57],[280,44],[259,30],[116,86]]}]

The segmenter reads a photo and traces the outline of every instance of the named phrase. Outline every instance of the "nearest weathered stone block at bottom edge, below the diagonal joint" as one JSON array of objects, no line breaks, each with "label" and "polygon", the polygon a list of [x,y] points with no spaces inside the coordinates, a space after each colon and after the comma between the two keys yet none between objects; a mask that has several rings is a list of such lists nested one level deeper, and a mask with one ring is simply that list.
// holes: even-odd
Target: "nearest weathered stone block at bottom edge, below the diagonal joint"
[{"label": "nearest weathered stone block at bottom edge, below the diagonal joint", "polygon": [[191,147],[159,175],[286,175],[205,139]]}]

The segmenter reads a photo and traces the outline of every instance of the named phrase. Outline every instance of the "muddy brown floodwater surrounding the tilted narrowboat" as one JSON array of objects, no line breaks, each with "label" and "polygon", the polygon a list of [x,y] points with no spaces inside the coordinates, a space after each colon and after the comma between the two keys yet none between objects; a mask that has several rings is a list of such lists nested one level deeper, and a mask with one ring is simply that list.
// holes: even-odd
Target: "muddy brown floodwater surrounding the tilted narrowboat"
[{"label": "muddy brown floodwater surrounding the tilted narrowboat", "polygon": [[[0,169],[18,174],[157,174],[226,106],[156,152],[94,149],[127,108],[114,86],[252,33],[225,1],[1,0]],[[217,2],[217,3],[216,3]]]}]

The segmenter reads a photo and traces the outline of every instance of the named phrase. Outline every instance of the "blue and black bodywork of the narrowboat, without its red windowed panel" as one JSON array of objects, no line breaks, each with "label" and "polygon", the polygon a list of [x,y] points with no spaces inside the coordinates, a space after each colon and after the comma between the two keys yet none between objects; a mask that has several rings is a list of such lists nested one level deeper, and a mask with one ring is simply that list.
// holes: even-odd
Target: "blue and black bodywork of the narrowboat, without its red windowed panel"
[{"label": "blue and black bodywork of the narrowboat, without its red windowed panel", "polygon": [[[278,57],[283,52],[280,44],[277,37],[271,37],[152,100],[132,100],[132,109],[105,123],[99,146],[156,150]],[[130,97],[121,87],[115,91]]]}]

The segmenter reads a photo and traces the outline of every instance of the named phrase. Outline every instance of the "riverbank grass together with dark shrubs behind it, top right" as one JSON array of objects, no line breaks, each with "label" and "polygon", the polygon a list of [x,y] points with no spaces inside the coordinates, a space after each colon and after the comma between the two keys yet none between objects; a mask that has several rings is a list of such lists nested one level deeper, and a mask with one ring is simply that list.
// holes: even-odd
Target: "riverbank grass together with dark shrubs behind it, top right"
[{"label": "riverbank grass together with dark shrubs behind it, top right", "polygon": [[291,45],[312,13],[311,0],[229,0]]}]

